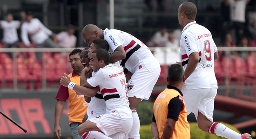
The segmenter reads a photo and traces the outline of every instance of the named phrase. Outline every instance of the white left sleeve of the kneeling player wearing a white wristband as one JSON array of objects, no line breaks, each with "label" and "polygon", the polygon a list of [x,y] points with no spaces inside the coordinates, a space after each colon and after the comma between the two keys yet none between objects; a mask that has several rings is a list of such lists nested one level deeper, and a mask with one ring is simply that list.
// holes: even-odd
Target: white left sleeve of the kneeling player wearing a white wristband
[{"label": "white left sleeve of the kneeling player wearing a white wristband", "polygon": [[106,80],[102,69],[98,70],[91,78],[87,79],[87,83],[93,87],[105,85]]}]

